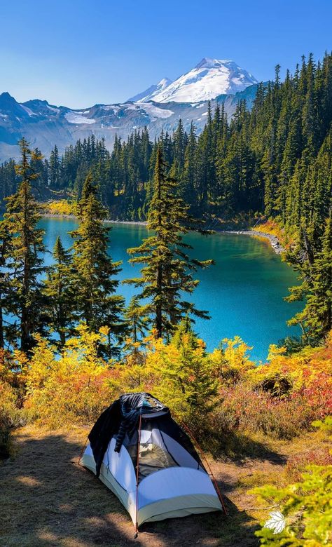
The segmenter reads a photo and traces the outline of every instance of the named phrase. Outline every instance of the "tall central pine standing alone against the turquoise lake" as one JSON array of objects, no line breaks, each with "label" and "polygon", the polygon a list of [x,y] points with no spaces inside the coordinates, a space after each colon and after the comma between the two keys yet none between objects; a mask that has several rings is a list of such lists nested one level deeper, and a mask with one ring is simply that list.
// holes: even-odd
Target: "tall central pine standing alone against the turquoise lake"
[{"label": "tall central pine standing alone against the turquoise lake", "polygon": [[132,264],[146,266],[141,270],[141,278],[126,281],[141,287],[139,298],[149,300],[157,337],[170,335],[188,313],[207,318],[207,313],[186,302],[181,292],[193,292],[198,285],[193,272],[198,267],[212,264],[211,260],[200,262],[191,259],[185,252],[191,246],[184,243],[182,236],[195,224],[188,215],[188,206],[178,196],[177,181],[167,177],[166,169],[159,146],[153,196],[148,210],[148,229],[153,230],[154,235],[146,238],[139,247],[128,249],[130,255],[138,255],[130,259]]}]

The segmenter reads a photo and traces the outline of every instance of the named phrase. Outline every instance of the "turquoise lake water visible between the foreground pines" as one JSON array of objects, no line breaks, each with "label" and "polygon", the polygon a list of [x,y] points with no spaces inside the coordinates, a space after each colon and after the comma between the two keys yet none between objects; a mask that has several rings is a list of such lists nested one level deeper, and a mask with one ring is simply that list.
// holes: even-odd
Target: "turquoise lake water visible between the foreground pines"
[{"label": "turquoise lake water visible between the foreground pines", "polygon": [[[57,236],[69,248],[72,239],[68,231],[76,225],[71,219],[43,218],[40,226],[46,231],[46,248],[53,249]],[[139,266],[128,264],[126,250],[146,237],[146,227],[137,224],[111,224],[111,227],[111,257],[123,261],[120,281],[137,276]],[[196,278],[200,284],[192,296],[198,309],[209,311],[211,316],[210,320],[198,319],[195,323],[195,331],[205,340],[207,349],[214,349],[223,338],[239,335],[249,346],[254,346],[252,358],[265,360],[270,344],[298,334],[296,328],[286,325],[286,320],[301,306],[283,299],[287,289],[296,285],[296,274],[275,254],[268,241],[236,234],[208,237],[189,234],[186,241],[193,245],[195,258],[212,258],[216,262],[209,269],[198,271]],[[52,262],[50,253],[46,253],[46,262]],[[128,302],[135,289],[119,285],[118,292]]]}]

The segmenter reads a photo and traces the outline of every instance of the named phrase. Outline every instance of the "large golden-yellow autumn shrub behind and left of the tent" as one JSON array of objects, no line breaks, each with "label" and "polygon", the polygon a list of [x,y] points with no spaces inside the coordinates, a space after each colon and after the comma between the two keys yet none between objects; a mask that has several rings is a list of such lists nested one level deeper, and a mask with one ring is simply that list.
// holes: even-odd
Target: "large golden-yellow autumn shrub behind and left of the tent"
[{"label": "large golden-yellow autumn shrub behind and left of the tent", "polygon": [[113,398],[106,379],[109,364],[98,356],[106,330],[89,332],[78,326],[78,337],[67,341],[61,355],[45,339],[36,346],[27,369],[25,408],[31,419],[48,426],[90,424]]}]

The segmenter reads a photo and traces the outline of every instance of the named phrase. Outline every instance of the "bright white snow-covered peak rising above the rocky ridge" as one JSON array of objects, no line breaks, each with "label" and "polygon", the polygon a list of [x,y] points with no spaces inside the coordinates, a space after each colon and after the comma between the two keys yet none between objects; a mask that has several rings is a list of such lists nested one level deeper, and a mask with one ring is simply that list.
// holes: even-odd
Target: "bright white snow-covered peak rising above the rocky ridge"
[{"label": "bright white snow-covered peak rising above the rocky ridge", "polygon": [[[191,71],[173,82],[162,80],[132,100],[146,102],[200,102],[212,100],[218,95],[233,95],[257,83],[256,78],[230,60],[203,58]],[[147,93],[149,91],[149,93]],[[142,95],[141,98],[140,95]],[[138,98],[140,97],[140,98]]]}]

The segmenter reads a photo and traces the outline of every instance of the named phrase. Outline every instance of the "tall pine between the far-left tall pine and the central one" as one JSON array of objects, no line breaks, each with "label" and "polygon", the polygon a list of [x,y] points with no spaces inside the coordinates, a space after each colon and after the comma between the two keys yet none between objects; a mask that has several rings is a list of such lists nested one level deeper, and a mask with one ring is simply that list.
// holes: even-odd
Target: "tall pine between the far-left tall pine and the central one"
[{"label": "tall pine between the far-left tall pine and the central one", "polygon": [[84,320],[92,331],[102,326],[110,329],[109,347],[111,355],[116,347],[111,340],[123,336],[123,297],[115,295],[118,288],[117,274],[120,262],[113,262],[108,254],[108,227],[104,226],[107,210],[99,201],[98,191],[88,175],[78,202],[78,229],[71,231],[74,238],[73,268],[71,283],[76,295],[76,316]]}]

